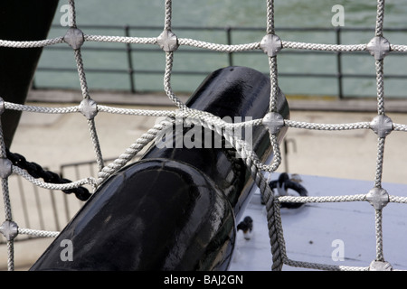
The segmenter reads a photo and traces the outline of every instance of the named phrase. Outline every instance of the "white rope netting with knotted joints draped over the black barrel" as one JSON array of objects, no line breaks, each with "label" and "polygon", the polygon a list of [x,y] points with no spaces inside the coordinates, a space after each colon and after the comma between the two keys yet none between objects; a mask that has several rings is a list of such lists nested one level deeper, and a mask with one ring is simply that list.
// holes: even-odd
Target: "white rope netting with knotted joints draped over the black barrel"
[{"label": "white rope netting with knotted joints draped over the black barrel", "polygon": [[[377,17],[375,25],[375,33],[371,42],[366,44],[357,45],[335,45],[335,44],[319,44],[319,43],[305,43],[305,42],[287,42],[280,40],[276,35],[274,29],[274,2],[272,0],[266,1],[267,17],[265,36],[259,42],[243,43],[238,45],[225,45],[219,43],[203,42],[194,39],[178,38],[172,32],[172,1],[165,1],[165,21],[164,30],[157,37],[122,37],[122,36],[104,36],[104,35],[88,35],[82,33],[78,28],[75,17],[74,1],[70,0],[71,6],[71,27],[68,32],[55,39],[33,41],[33,42],[14,42],[0,40],[0,46],[11,47],[15,49],[30,49],[33,47],[44,47],[47,45],[57,45],[61,43],[68,43],[74,53],[74,60],[77,64],[78,75],[80,80],[80,90],[83,100],[74,107],[35,107],[24,106],[6,102],[2,99],[1,112],[6,109],[18,111],[30,111],[42,114],[69,114],[81,113],[87,118],[88,126],[90,129],[90,140],[93,144],[95,159],[98,163],[99,173],[97,177],[89,177],[86,179],[78,180],[75,182],[56,184],[49,182],[41,182],[23,169],[14,166],[6,158],[5,142],[3,132],[0,126],[0,177],[2,182],[3,197],[5,203],[5,222],[1,230],[7,239],[8,249],[8,268],[14,270],[14,237],[17,234],[28,234],[40,237],[56,237],[59,232],[43,231],[31,228],[18,228],[12,216],[9,190],[8,190],[8,176],[11,173],[16,173],[24,177],[34,185],[50,189],[50,190],[68,190],[77,188],[83,184],[89,184],[96,190],[99,184],[109,178],[110,175],[118,172],[120,168],[126,165],[140,150],[147,144],[152,142],[159,132],[172,126],[174,117],[188,117],[195,124],[204,126],[205,128],[214,129],[217,133],[221,134],[228,140],[232,146],[241,154],[247,168],[251,172],[256,185],[259,187],[263,195],[263,200],[266,203],[267,221],[270,232],[270,247],[272,256],[272,270],[281,270],[283,265],[300,266],[306,268],[323,269],[323,270],[369,270],[369,269],[388,269],[392,268],[383,257],[383,231],[382,231],[382,213],[383,208],[388,202],[407,203],[407,198],[392,196],[382,188],[382,173],[383,173],[383,152],[385,138],[392,131],[407,131],[407,125],[395,124],[392,120],[385,115],[384,106],[384,81],[383,81],[383,59],[389,52],[407,51],[407,45],[396,45],[388,42],[383,37],[383,18],[384,18],[384,0],[377,1]],[[149,110],[149,109],[127,109],[119,107],[108,107],[99,105],[94,99],[90,98],[88,85],[86,81],[85,69],[81,57],[80,47],[83,42],[121,42],[121,43],[138,43],[146,45],[158,45],[166,54],[166,65],[164,73],[164,91],[166,96],[170,98],[175,104],[175,110]],[[279,121],[268,121],[267,126],[263,123],[263,119],[254,119],[239,124],[226,123],[219,117],[212,114],[191,109],[176,97],[171,87],[171,75],[174,62],[175,51],[179,46],[193,46],[205,50],[235,52],[235,51],[260,51],[267,54],[270,66],[270,113],[271,119],[278,119],[277,112],[277,95],[278,95],[278,70],[277,70],[277,56],[282,49],[296,49],[296,50],[313,50],[313,51],[363,51],[372,54],[373,61],[375,61],[376,72],[376,86],[377,86],[377,116],[371,122],[359,122],[348,124],[317,124],[298,122],[295,120],[284,119],[282,126],[288,126],[297,129],[312,129],[312,130],[325,130],[325,131],[343,131],[355,129],[368,129],[373,130],[377,134],[377,159],[374,175],[374,187],[371,191],[365,194],[349,194],[334,197],[289,197],[289,196],[275,196],[273,191],[270,190],[268,181],[264,177],[264,172],[275,172],[281,163],[281,154],[279,143],[277,141],[277,133],[281,129]],[[265,59],[266,60],[266,59]],[[147,132],[137,139],[137,141],[120,154],[118,158],[106,165],[101,154],[99,138],[96,130],[96,119],[99,112],[106,112],[111,114],[124,114],[134,116],[149,116],[149,117],[166,117],[165,120],[157,123],[155,126],[147,130]],[[270,115],[271,114],[271,115]],[[228,129],[236,126],[266,126],[270,132],[270,144],[273,148],[273,161],[272,163],[261,163],[258,156],[251,151],[250,145],[246,144],[241,139],[228,134]],[[277,133],[276,133],[277,132]],[[281,202],[345,202],[345,201],[368,201],[372,204],[375,212],[375,232],[376,232],[376,256],[371,264],[366,264],[363,267],[355,266],[331,266],[325,264],[315,264],[308,262],[298,262],[289,259],[286,252],[285,241],[283,236],[283,228],[280,217],[280,203]]]}]

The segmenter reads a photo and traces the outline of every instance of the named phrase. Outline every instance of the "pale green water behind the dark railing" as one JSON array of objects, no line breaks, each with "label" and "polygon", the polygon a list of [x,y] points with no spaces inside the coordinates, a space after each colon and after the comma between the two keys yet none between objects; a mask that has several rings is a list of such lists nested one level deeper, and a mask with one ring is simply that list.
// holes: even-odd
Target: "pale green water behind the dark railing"
[{"label": "pale green water behind the dark railing", "polygon": [[[176,31],[179,26],[198,27],[265,27],[265,0],[174,0],[173,1],[174,32],[180,38],[194,38],[206,42],[226,43],[225,32],[191,32]],[[67,1],[60,1],[60,7]],[[369,32],[348,32],[342,34],[345,44],[359,44],[369,42],[374,36],[376,14],[375,0],[275,0],[276,33],[283,40],[298,42],[336,43],[335,27],[331,19],[333,5],[343,5],[345,9],[345,26],[371,27]],[[164,25],[163,0],[82,0],[77,1],[77,23],[80,25]],[[66,27],[62,27],[60,19],[64,12],[57,11],[54,19],[55,27],[49,37],[63,35]],[[407,1],[387,0],[385,6],[384,25],[388,28],[407,27]],[[331,28],[332,32],[279,32],[279,27],[320,27]],[[124,35],[123,29],[82,29],[87,34]],[[133,30],[131,36],[156,37],[160,30]],[[263,32],[232,33],[232,43],[259,42]],[[407,44],[406,33],[385,33],[390,42]],[[66,44],[59,44],[63,46]],[[128,59],[125,51],[90,51],[91,47],[126,48],[123,43],[86,42],[83,46],[83,60],[85,69],[128,70]],[[133,48],[151,48],[156,46],[144,45]],[[182,53],[191,49],[181,47],[175,52],[175,71],[213,71],[228,65],[228,55],[225,53]],[[133,68],[135,70],[162,71],[165,66],[164,53],[134,51],[132,53]],[[385,59],[385,74],[407,74],[407,57],[389,55]],[[256,53],[238,53],[233,56],[234,65],[249,66],[251,68],[268,71],[267,56],[262,51]],[[336,73],[336,54],[302,54],[294,55],[281,53],[278,57],[279,73]],[[43,51],[39,67],[62,67],[75,69],[72,51],[52,50]],[[374,97],[374,59],[366,53],[358,55],[343,54],[343,73],[371,74],[369,79],[343,79],[345,97]],[[129,77],[127,74],[87,72],[90,91],[97,89],[128,90]],[[173,89],[178,91],[193,91],[204,79],[204,75],[183,74],[174,75]],[[137,90],[162,91],[162,75],[145,73],[135,75]],[[404,79],[388,79],[385,93],[389,97],[403,98],[407,96],[407,81]],[[79,89],[79,80],[75,72],[39,71],[35,76],[37,87]],[[292,78],[280,77],[279,86],[286,94],[336,95],[337,80],[329,78]]]}]

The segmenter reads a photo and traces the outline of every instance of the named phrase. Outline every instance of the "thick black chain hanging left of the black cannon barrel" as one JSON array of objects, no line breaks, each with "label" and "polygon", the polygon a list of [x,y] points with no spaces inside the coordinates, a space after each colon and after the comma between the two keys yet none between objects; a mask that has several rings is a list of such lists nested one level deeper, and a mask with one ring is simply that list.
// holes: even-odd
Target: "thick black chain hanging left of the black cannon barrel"
[{"label": "thick black chain hanging left of the black cannon barrel", "polygon": [[[27,162],[25,157],[21,154],[11,153],[6,149],[7,158],[19,168],[27,171],[33,178],[42,178],[43,182],[50,183],[69,183],[68,179],[62,178],[58,173],[46,171],[38,163]],[[64,193],[74,193],[79,200],[88,200],[90,198],[90,191],[84,187],[73,188],[69,190],[62,190]]]}]

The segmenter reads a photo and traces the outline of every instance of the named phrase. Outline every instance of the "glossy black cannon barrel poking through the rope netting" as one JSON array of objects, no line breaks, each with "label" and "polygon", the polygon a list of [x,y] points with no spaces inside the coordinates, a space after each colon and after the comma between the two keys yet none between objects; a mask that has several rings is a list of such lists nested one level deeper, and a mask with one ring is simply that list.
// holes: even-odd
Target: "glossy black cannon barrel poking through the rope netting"
[{"label": "glossy black cannon barrel poking through the rope netting", "polygon": [[[245,121],[264,117],[269,102],[269,78],[257,70],[228,67],[209,75],[186,106]],[[289,118],[281,93],[278,110]],[[200,135],[196,125],[185,122],[175,122],[170,129],[140,161],[102,183],[31,270],[229,267],[236,220],[251,199],[251,174],[232,145],[212,130],[203,128]],[[279,141],[285,132],[285,127],[279,131]],[[177,145],[180,137],[194,147]],[[241,137],[248,142],[251,137],[261,161],[272,154],[263,126],[253,126]],[[71,260],[62,257],[63,240],[71,241]]]}]

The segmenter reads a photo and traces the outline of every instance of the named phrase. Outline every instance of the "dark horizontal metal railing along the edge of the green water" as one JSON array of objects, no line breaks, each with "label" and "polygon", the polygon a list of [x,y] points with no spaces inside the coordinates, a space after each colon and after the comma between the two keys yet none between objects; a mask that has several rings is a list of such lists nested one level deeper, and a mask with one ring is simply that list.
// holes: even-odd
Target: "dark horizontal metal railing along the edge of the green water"
[{"label": "dark horizontal metal railing along the edge of the green water", "polygon": [[[54,30],[66,30],[65,27],[59,25],[53,25],[52,29]],[[122,30],[124,36],[130,36],[132,31],[156,31],[157,35],[162,30],[161,26],[132,26],[132,25],[81,25],[81,29],[83,29],[86,33],[86,30]],[[233,44],[232,39],[235,33],[243,33],[243,32],[251,32],[251,33],[264,33],[263,28],[257,27],[174,27],[176,32],[196,32],[196,33],[211,33],[211,32],[224,32],[224,42],[226,44]],[[280,27],[276,28],[276,31],[279,33],[329,33],[335,37],[335,44],[344,44],[342,42],[342,36],[344,33],[371,33],[373,35],[374,30],[372,28],[345,28],[345,27],[336,27],[336,28],[306,28],[306,27]],[[386,33],[407,33],[407,28],[393,28],[393,29],[386,29]],[[52,45],[49,47],[45,47],[46,50],[66,50],[71,51],[71,48],[68,46],[57,46]],[[108,51],[108,52],[123,52],[126,53],[127,57],[127,69],[101,69],[101,68],[88,68],[87,73],[106,73],[106,74],[122,74],[128,75],[128,88],[126,89],[127,92],[130,93],[137,93],[137,92],[145,92],[140,91],[137,89],[135,83],[135,77],[137,75],[159,75],[162,76],[164,71],[163,70],[146,70],[137,68],[137,65],[134,64],[133,61],[133,53],[137,52],[151,52],[162,54],[162,50],[158,47],[156,48],[140,48],[135,47],[135,44],[123,44],[123,47],[90,47],[84,46],[83,51]],[[218,53],[218,54],[225,54],[224,52],[217,52],[217,51],[207,51],[207,50],[197,50],[193,48],[183,48],[182,50],[177,51],[177,53]],[[227,54],[227,64],[232,66],[235,64],[234,56],[238,53],[259,53],[259,51],[243,51],[243,52],[229,52]],[[360,51],[355,52],[346,52],[346,54],[360,54]],[[336,79],[337,82],[337,91],[336,97],[339,99],[345,98],[344,93],[344,79],[374,79],[374,74],[367,74],[367,73],[345,73],[343,68],[343,52],[337,51],[303,51],[303,50],[282,50],[281,54],[315,54],[315,55],[323,55],[323,54],[334,54],[336,55],[336,70],[329,72],[329,73],[317,73],[317,72],[279,72],[279,77],[282,78],[307,78],[307,79]],[[402,52],[392,53],[392,55],[398,54],[405,54]],[[60,72],[72,72],[77,73],[75,68],[67,68],[67,67],[44,67],[39,66],[37,68],[37,72],[44,72],[44,71],[52,71],[56,73]],[[188,70],[173,70],[174,75],[203,75],[206,76],[212,71],[202,71],[196,70],[194,67],[189,68]],[[264,71],[266,75],[269,74],[269,71]],[[407,79],[407,74],[385,74],[386,79]],[[38,85],[33,81],[33,89],[49,89],[47,87],[43,87]],[[58,89],[66,89],[64,87]],[[94,88],[98,89],[98,88]],[[161,91],[160,89],[156,89],[156,91]],[[372,96],[374,97],[374,96]]]}]

